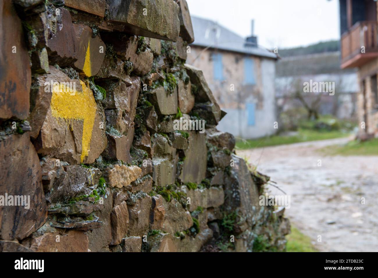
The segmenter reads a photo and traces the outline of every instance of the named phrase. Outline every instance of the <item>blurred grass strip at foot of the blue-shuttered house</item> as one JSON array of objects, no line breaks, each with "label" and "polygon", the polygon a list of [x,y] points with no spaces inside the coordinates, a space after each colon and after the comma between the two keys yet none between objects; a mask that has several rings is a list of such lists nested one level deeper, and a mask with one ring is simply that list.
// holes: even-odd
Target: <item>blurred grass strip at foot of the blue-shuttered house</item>
[{"label": "blurred grass strip at foot of the blue-shuttered house", "polygon": [[281,144],[293,144],[315,140],[334,139],[349,136],[349,132],[342,132],[339,130],[333,131],[319,131],[312,129],[300,128],[297,135],[294,136],[280,136],[273,135],[258,139],[240,140],[236,142],[236,147],[239,149],[252,149],[266,146],[276,146]]}]

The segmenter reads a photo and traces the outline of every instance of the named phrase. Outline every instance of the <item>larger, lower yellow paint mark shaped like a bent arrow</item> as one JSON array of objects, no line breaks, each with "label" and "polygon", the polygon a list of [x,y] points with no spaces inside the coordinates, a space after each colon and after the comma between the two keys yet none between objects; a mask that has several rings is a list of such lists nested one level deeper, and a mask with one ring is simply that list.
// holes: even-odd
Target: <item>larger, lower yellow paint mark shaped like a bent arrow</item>
[{"label": "larger, lower yellow paint mark shaped like a bent arrow", "polygon": [[54,85],[51,96],[51,113],[56,118],[65,119],[68,125],[72,124],[73,120],[83,120],[80,157],[81,162],[83,162],[84,158],[88,156],[97,106],[91,89],[81,80],[80,84],[82,92],[75,90],[74,93],[67,89],[64,82],[59,83],[59,86]]}]

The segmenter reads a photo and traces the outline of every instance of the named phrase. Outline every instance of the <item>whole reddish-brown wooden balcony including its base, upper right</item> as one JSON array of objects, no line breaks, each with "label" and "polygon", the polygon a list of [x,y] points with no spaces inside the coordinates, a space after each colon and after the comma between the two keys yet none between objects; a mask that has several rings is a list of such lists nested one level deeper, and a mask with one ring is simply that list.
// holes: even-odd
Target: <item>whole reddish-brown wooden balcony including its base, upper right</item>
[{"label": "whole reddish-brown wooden balcony including its base, upper right", "polygon": [[[365,47],[365,53],[361,53]],[[361,67],[378,57],[377,22],[357,22],[341,36],[341,68]]]}]

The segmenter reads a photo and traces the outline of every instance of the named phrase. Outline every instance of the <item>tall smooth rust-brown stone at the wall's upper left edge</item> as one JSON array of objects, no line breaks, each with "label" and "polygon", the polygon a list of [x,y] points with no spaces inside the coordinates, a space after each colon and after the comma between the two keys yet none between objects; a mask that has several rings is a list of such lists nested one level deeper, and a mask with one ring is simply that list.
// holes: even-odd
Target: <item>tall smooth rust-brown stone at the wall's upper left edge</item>
[{"label": "tall smooth rust-brown stone at the wall's upper left edge", "polygon": [[0,3],[0,118],[29,113],[31,69],[21,26],[11,1]]}]

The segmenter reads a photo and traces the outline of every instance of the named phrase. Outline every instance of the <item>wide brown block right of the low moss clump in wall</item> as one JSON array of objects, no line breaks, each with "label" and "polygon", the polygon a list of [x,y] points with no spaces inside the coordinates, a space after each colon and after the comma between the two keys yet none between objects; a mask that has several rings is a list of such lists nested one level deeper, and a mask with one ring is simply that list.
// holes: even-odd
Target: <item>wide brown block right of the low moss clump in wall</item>
[{"label": "wide brown block right of the low moss clump in wall", "polygon": [[181,186],[180,191],[184,192],[187,197],[191,198],[189,211],[194,211],[197,207],[215,208],[225,202],[225,193],[223,192],[223,189],[214,186],[195,190],[187,189],[186,186]]}]

